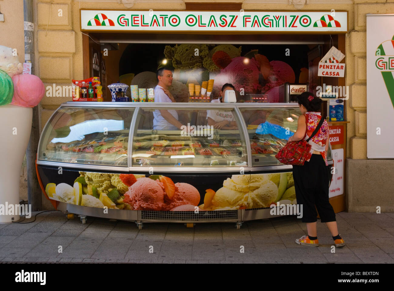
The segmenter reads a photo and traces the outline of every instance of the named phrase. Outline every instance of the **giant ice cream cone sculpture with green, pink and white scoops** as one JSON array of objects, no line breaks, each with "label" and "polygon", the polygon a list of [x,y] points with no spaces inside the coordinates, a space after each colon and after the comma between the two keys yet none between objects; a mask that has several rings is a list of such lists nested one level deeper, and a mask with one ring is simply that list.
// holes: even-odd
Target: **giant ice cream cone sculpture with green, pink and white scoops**
[{"label": "giant ice cream cone sculpture with green, pink and white scoops", "polygon": [[[19,175],[32,129],[32,107],[45,94],[40,78],[21,75],[22,71],[13,49],[0,45],[0,136],[4,139],[0,144],[0,205],[19,205]],[[0,224],[20,219],[19,211],[4,210]]]}]

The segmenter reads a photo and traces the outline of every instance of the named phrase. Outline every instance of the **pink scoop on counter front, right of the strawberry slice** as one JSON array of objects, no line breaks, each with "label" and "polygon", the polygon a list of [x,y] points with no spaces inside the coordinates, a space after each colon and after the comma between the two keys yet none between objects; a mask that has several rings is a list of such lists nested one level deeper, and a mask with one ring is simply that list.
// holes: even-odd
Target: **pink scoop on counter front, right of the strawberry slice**
[{"label": "pink scoop on counter front, right of the strawberry slice", "polygon": [[[197,206],[200,203],[200,193],[188,183],[175,183],[175,194],[172,200],[165,200],[164,210],[171,210],[174,207],[191,204]],[[193,208],[194,211],[194,208]]]}]

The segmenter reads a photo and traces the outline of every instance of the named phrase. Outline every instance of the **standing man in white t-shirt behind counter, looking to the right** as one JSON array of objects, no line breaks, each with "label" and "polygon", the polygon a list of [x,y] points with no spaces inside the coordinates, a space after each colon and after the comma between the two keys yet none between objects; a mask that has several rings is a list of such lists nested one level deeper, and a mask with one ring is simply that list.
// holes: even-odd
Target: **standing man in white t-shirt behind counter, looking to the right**
[{"label": "standing man in white t-shirt behind counter, looking to the right", "polygon": [[[162,67],[156,73],[158,84],[154,88],[154,102],[176,102],[173,95],[168,91],[173,81],[170,69]],[[182,123],[178,121],[177,110],[155,110],[153,112],[153,129],[158,130],[178,130]]]}]

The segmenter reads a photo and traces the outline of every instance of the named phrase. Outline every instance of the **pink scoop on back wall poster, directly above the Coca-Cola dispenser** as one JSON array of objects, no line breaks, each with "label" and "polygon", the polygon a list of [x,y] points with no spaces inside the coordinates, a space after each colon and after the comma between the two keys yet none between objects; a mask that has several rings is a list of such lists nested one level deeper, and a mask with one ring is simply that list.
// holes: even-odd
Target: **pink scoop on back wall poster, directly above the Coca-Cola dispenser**
[{"label": "pink scoop on back wall poster, directly above the Coca-Cola dispenser", "polygon": [[264,86],[264,91],[268,91],[276,86],[281,86],[286,82],[294,83],[296,81],[296,74],[294,74],[294,70],[287,63],[282,61],[271,61],[269,65],[271,65],[271,71],[266,86]]}]

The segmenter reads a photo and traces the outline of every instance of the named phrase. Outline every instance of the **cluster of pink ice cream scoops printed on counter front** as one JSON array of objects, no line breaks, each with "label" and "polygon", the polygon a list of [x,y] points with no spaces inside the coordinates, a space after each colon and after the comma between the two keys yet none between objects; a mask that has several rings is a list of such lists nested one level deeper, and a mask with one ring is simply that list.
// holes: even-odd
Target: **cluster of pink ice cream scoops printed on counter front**
[{"label": "cluster of pink ice cream scoops printed on counter front", "polygon": [[[188,183],[175,183],[175,194],[173,199],[169,200],[163,183],[142,177],[128,188],[123,201],[132,205],[134,210],[169,211],[183,205],[191,205],[193,209],[190,211],[194,211],[194,207],[200,202],[200,193]],[[191,209],[191,206],[186,208]]]}]

